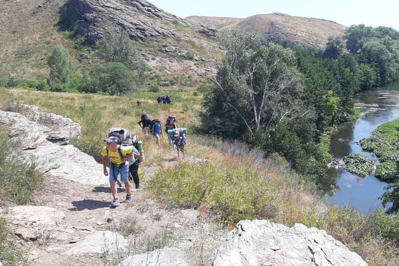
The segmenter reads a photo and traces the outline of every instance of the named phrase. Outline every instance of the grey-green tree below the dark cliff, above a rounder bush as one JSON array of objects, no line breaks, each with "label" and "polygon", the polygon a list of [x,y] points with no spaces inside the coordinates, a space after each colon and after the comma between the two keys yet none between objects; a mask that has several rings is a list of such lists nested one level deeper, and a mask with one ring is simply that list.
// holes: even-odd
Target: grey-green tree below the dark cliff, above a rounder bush
[{"label": "grey-green tree below the dark cliff, above a rounder bush", "polygon": [[120,62],[126,66],[137,57],[137,50],[126,31],[107,32],[97,42],[98,55],[106,62]]}]

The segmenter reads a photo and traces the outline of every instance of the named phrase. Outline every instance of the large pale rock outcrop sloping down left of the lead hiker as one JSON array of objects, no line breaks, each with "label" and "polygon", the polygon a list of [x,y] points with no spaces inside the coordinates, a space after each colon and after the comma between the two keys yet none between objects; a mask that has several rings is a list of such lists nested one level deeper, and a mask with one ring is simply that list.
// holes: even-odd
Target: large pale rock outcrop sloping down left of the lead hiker
[{"label": "large pale rock outcrop sloping down left of the lead hiker", "polygon": [[[56,117],[58,121],[68,121],[60,116],[48,115],[51,118]],[[57,139],[54,135],[58,135],[59,140],[64,138],[59,135],[59,128],[55,133],[50,128],[30,121],[19,113],[4,111],[0,111],[0,125],[10,131],[11,138],[21,141],[24,149],[22,158],[26,160],[34,158],[46,174],[84,184],[107,183],[102,166],[93,157],[81,152],[73,145],[65,145],[64,141],[54,141]],[[67,129],[75,129],[75,127],[64,127],[65,134],[74,134],[74,131],[68,133]]]}]

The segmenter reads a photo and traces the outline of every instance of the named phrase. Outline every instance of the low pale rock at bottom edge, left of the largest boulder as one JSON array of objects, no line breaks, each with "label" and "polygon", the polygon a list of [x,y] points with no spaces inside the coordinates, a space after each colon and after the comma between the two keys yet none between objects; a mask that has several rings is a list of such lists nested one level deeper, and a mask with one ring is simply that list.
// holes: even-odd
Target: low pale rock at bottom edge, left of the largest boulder
[{"label": "low pale rock at bottom edge, left of the largest boulder", "polygon": [[190,266],[185,254],[177,248],[163,248],[152,252],[129,256],[123,266]]}]

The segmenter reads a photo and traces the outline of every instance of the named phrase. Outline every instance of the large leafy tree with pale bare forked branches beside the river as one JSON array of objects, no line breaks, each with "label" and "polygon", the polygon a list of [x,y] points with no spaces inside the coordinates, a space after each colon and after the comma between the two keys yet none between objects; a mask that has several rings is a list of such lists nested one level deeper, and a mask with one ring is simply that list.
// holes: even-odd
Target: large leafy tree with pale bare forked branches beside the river
[{"label": "large leafy tree with pale bare forked branches beside the river", "polygon": [[219,39],[226,53],[211,78],[214,90],[206,104],[213,132],[253,136],[299,115],[295,95],[301,77],[292,50],[259,46],[253,34],[239,31],[224,32]]}]

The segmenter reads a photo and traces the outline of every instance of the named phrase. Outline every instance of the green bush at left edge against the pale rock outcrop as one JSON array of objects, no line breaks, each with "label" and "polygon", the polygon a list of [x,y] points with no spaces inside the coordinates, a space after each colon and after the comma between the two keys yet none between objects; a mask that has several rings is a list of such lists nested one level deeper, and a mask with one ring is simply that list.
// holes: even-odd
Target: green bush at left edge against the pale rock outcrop
[{"label": "green bush at left edge against the pale rock outcrop", "polygon": [[34,162],[18,158],[19,147],[0,127],[0,198],[17,204],[28,203],[33,190],[43,184],[43,173]]}]

